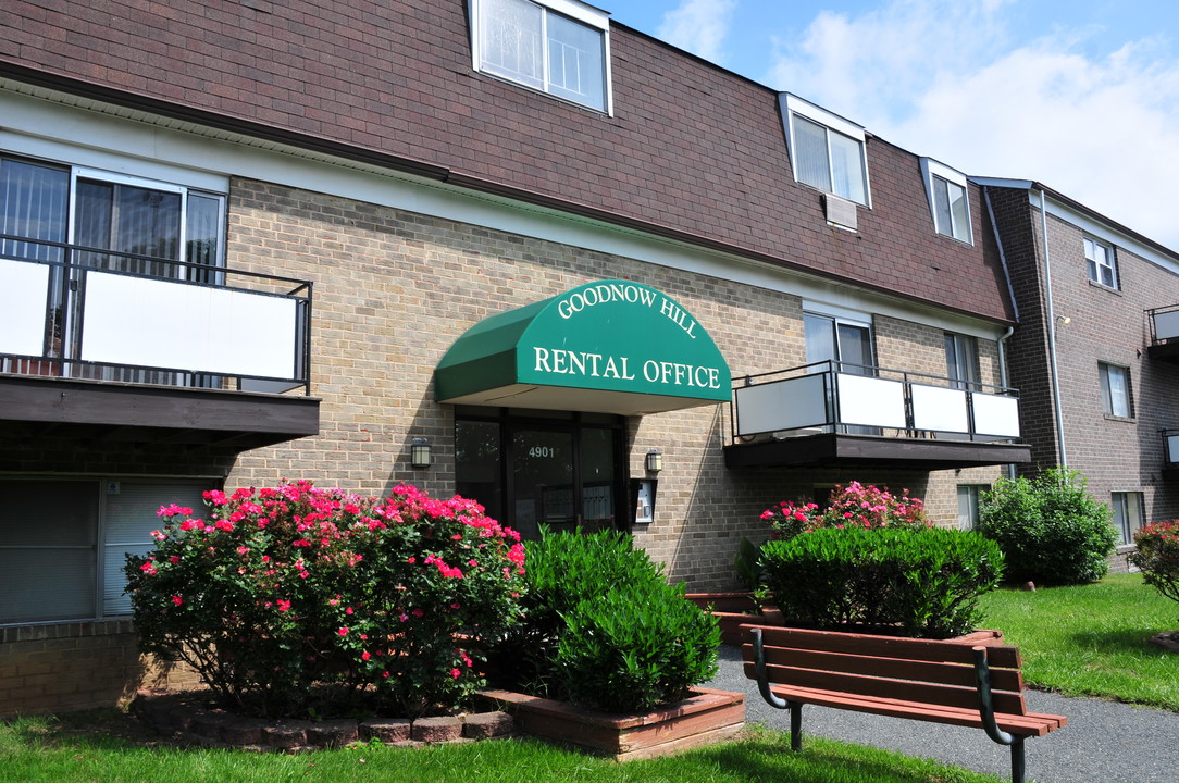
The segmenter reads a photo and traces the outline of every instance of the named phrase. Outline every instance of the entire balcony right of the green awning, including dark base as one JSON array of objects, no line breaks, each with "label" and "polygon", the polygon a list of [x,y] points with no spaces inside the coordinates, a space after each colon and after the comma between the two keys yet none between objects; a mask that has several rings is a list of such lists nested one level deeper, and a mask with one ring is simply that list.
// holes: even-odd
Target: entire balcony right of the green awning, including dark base
[{"label": "entire balcony right of the green awning, including dark base", "polygon": [[733,389],[731,468],[941,471],[1029,462],[1012,389],[818,362],[747,376]]}]

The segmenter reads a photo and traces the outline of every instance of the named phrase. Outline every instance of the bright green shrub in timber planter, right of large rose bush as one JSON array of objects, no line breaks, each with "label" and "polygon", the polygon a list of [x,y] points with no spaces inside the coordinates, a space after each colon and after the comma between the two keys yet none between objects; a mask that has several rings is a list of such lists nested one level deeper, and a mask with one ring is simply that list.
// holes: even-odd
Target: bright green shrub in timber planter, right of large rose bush
[{"label": "bright green shrub in timber planter, right of large rose bush", "polygon": [[630,711],[678,700],[716,673],[716,619],[630,535],[544,531],[525,546],[525,618],[493,651],[496,684]]}]

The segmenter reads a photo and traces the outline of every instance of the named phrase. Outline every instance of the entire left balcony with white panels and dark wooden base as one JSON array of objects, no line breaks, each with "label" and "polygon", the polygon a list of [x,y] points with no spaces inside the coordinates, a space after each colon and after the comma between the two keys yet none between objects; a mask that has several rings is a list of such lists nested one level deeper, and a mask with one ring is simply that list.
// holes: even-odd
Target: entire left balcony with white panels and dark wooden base
[{"label": "entire left balcony with white panels and dark wooden base", "polygon": [[318,433],[309,282],[4,235],[0,249],[6,432],[235,452]]}]

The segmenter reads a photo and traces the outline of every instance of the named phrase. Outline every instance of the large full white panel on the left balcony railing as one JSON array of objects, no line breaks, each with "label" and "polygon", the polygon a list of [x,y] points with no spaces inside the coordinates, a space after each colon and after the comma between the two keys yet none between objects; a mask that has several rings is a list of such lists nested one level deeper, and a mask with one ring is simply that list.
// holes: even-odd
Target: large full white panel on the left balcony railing
[{"label": "large full white panel on the left balcony railing", "polygon": [[86,276],[85,361],[292,379],[295,337],[294,300],[106,272]]}]

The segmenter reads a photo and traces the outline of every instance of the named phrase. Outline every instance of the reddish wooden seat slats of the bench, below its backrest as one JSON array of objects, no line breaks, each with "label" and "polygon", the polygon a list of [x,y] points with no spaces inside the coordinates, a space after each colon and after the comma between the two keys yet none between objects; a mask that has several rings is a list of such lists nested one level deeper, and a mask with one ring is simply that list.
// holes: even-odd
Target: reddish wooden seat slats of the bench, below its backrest
[{"label": "reddish wooden seat slats of the bench, below its backrest", "polygon": [[[977,710],[955,709],[949,706],[928,705],[907,699],[887,699],[856,697],[848,693],[825,691],[822,689],[791,687],[775,685],[771,690],[784,699],[817,706],[829,706],[839,710],[852,710],[871,715],[885,715],[914,721],[947,723],[951,725],[981,728],[982,721]],[[1068,719],[1059,715],[1006,715],[995,713],[999,728],[1008,733],[1025,737],[1042,737],[1068,724]]]}]

